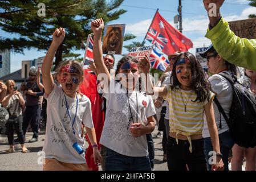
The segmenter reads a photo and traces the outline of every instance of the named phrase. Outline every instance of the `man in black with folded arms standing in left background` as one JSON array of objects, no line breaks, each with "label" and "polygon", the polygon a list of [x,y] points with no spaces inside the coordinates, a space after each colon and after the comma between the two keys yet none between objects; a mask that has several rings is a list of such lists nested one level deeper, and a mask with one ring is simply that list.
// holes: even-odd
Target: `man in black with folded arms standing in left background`
[{"label": "man in black with folded arms standing in left background", "polygon": [[27,127],[31,126],[33,136],[29,142],[36,142],[38,140],[38,129],[41,117],[41,100],[43,92],[36,84],[36,71],[29,72],[29,82],[21,87],[23,94],[26,96],[26,110],[23,116],[22,130],[24,136],[27,132]]}]

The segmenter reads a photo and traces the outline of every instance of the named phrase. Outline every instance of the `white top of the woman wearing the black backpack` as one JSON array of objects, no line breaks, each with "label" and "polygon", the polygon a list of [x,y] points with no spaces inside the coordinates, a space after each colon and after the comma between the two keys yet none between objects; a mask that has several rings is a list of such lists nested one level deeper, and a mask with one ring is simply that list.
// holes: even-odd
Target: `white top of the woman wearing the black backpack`
[{"label": "white top of the woman wearing the black backpack", "polygon": [[[226,72],[226,73],[231,74],[231,72]],[[233,90],[232,90],[231,84],[224,77],[218,74],[215,74],[209,77],[208,80],[210,81],[213,92],[217,94],[217,99],[220,102],[220,105],[222,106],[222,108],[224,109],[227,115],[227,118],[229,118],[229,110],[233,100]],[[214,117],[215,117],[217,129],[218,129],[218,134],[224,133],[225,131],[229,130],[229,127],[227,126],[224,116],[218,110],[218,107],[215,104],[215,102],[213,102],[213,109],[214,109]],[[221,114],[222,129],[219,128],[220,114]],[[206,122],[206,117],[204,118],[205,118],[204,119],[205,121],[204,121],[204,130],[202,132],[202,137],[207,138],[207,137],[210,137],[210,134],[209,134],[208,125]]]}]

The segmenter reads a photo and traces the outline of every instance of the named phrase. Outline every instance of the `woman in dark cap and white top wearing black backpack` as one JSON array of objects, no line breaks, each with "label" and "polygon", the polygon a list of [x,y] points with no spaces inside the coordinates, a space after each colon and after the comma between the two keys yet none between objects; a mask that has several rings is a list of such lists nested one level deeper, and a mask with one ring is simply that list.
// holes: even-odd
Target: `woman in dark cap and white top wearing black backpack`
[{"label": "woman in dark cap and white top wearing black backpack", "polygon": [[[201,53],[200,55],[206,58],[208,61],[208,70],[210,71],[210,73],[213,73],[213,75],[210,76],[208,80],[211,84],[214,94],[216,95],[217,100],[220,102],[226,115],[229,115],[231,102],[233,99],[232,86],[224,77],[218,75],[218,73],[225,72],[229,75],[236,75],[236,67],[235,65],[228,63],[220,55],[218,55],[218,53],[216,52],[212,45],[204,53]],[[214,98],[214,100],[216,100],[216,98]],[[222,160],[224,162],[224,170],[228,171],[229,152],[234,145],[234,141],[229,132],[229,126],[227,126],[225,118],[218,110],[216,102],[213,103],[213,109],[216,125],[218,127],[218,135],[220,140]],[[207,167],[208,170],[210,170],[211,166],[209,159],[212,155],[209,152],[213,151],[213,148],[206,121],[204,124],[202,136],[204,138],[204,152],[206,156]]]}]

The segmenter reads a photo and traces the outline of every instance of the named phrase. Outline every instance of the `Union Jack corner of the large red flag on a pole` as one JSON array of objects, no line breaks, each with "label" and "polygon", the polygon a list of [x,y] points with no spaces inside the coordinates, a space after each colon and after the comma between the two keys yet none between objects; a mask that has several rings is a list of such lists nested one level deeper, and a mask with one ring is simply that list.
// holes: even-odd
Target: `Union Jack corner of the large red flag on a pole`
[{"label": "Union Jack corner of the large red flag on a pole", "polygon": [[164,38],[158,31],[154,28],[149,28],[146,39],[153,45],[156,45],[161,51],[165,44],[168,43],[168,39]]}]

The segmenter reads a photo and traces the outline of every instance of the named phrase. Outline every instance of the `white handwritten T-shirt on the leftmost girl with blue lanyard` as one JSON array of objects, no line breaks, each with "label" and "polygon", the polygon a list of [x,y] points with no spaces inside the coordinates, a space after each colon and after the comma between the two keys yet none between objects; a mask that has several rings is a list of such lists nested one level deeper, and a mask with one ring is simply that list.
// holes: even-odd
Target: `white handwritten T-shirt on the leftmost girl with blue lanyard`
[{"label": "white handwritten T-shirt on the leftmost girl with blue lanyard", "polygon": [[[78,101],[78,112],[74,122],[75,136],[72,130],[72,122],[76,111],[76,98],[68,97],[67,104],[70,109],[70,117],[66,107],[64,92],[62,88],[54,84],[54,89],[49,96],[44,94],[47,100],[47,126],[43,151],[47,159],[56,159],[64,163],[83,164],[86,163],[84,153],[79,155],[72,147],[75,142],[83,146],[82,122],[85,126],[92,128],[91,102],[86,96]],[[76,140],[75,140],[76,138]]]}]

